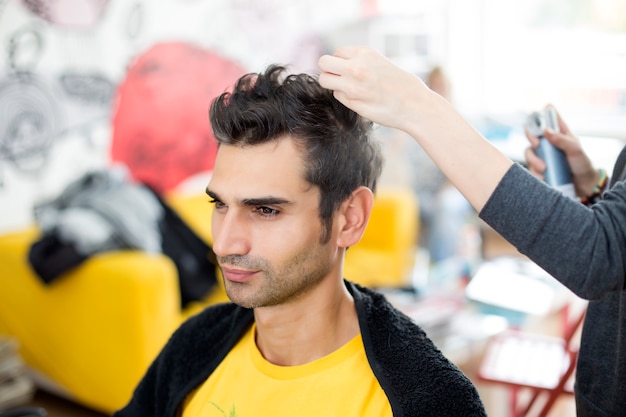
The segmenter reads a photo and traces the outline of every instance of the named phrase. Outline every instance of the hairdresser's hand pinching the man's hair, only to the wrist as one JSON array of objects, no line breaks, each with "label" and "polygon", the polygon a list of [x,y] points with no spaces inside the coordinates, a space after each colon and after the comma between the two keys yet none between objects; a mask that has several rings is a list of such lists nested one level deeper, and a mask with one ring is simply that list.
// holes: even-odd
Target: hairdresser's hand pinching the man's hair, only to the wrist
[{"label": "hairdresser's hand pinching the man's hair, only to the wrist", "polygon": [[[341,103],[371,121],[410,130],[432,110],[437,96],[418,77],[366,47],[343,47],[319,59],[320,84]],[[437,96],[438,97],[438,96]],[[436,99],[435,99],[436,100]]]}]

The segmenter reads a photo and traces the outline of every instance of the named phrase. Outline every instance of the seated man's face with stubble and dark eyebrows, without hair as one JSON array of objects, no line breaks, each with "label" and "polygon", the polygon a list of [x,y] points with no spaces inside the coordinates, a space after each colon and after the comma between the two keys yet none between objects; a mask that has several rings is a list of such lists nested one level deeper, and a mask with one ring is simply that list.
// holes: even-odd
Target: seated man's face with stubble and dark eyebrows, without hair
[{"label": "seated man's face with stubble and dark eyebrows, without hair", "polygon": [[215,200],[213,250],[226,293],[243,307],[295,300],[340,265],[333,240],[320,243],[319,189],[303,173],[289,137],[218,150],[207,187]]}]

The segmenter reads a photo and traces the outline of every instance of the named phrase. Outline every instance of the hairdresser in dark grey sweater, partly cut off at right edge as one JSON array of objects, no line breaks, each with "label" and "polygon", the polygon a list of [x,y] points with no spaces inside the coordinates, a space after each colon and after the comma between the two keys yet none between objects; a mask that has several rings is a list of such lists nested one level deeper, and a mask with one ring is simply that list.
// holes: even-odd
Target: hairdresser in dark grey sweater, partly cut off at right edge
[{"label": "hairdresser in dark grey sweater, partly cut off at right edge", "polygon": [[589,300],[576,364],[576,415],[625,416],[626,147],[608,182],[560,117],[558,131],[544,132],[567,157],[576,201],[536,177],[546,169],[534,153],[537,137],[527,132],[528,172],[380,53],[344,47],[321,57],[319,66],[320,83],[342,103],[412,136],[486,223]]}]

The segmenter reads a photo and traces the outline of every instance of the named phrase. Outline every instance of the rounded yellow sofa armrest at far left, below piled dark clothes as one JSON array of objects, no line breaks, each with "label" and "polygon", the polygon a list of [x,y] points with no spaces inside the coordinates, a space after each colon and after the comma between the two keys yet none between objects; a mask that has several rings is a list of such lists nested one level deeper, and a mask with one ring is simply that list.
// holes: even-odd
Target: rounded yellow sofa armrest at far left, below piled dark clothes
[{"label": "rounded yellow sofa armrest at far left, below piled dark clothes", "polygon": [[70,397],[111,412],[180,324],[176,267],[163,255],[108,252],[45,285],[27,258],[37,237],[35,228],[0,236],[0,333]]}]

